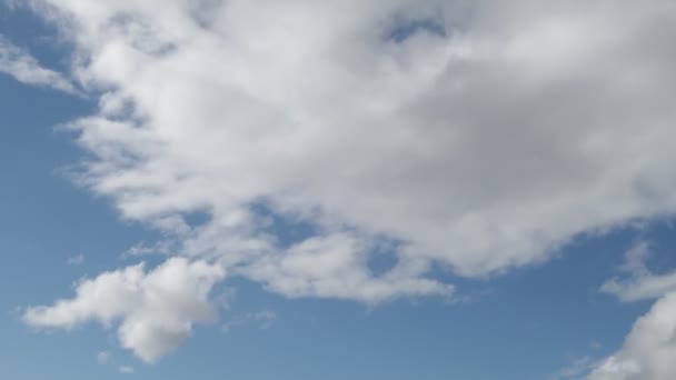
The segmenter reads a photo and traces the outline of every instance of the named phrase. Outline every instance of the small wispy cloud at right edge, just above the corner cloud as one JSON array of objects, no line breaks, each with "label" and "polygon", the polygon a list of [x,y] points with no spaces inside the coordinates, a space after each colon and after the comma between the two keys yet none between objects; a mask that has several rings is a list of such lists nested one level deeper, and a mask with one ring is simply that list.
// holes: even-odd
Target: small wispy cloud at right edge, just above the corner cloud
[{"label": "small wispy cloud at right edge, just above the corner cloud", "polygon": [[656,274],[646,266],[649,249],[649,243],[640,242],[627,251],[622,267],[626,276],[606,281],[600,291],[614,294],[625,302],[657,299],[676,291],[676,271]]}]

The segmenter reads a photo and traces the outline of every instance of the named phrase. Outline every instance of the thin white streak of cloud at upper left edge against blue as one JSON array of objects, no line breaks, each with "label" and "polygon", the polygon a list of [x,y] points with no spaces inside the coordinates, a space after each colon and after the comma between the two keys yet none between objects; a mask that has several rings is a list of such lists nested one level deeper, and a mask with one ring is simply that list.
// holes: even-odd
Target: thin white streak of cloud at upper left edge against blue
[{"label": "thin white streak of cloud at upper left edge against blue", "polygon": [[48,87],[72,94],[78,92],[62,74],[41,67],[38,60],[3,36],[0,36],[0,72],[27,84]]}]

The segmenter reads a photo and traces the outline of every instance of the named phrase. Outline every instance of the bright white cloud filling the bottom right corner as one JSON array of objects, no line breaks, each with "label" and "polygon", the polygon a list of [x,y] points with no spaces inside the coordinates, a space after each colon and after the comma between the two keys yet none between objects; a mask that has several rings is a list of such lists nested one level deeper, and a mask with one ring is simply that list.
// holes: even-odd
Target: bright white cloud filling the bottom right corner
[{"label": "bright white cloud filling the bottom right corner", "polygon": [[670,380],[676,373],[676,292],[659,299],[638,319],[623,348],[608,357],[588,380]]}]

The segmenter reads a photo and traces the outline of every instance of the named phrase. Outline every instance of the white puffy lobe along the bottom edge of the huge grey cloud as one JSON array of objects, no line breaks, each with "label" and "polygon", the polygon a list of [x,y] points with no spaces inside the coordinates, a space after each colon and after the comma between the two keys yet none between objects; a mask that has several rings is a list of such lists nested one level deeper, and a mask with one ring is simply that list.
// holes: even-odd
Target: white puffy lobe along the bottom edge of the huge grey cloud
[{"label": "white puffy lobe along the bottom edge of the huge grey cloud", "polygon": [[396,268],[374,277],[364,262],[369,247],[351,234],[334,234],[304,240],[282,254],[269,254],[241,272],[289,297],[329,297],[377,303],[400,296],[445,294],[453,287],[417,278],[427,270],[422,263],[400,261]]}]

